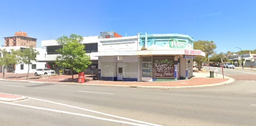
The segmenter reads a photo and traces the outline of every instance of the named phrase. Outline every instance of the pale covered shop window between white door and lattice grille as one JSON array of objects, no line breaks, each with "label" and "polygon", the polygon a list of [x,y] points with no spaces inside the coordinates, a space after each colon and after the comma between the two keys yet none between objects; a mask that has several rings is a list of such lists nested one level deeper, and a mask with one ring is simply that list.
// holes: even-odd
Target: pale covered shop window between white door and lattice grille
[{"label": "pale covered shop window between white door and lattice grille", "polygon": [[123,63],[124,78],[138,78],[138,63]]}]

